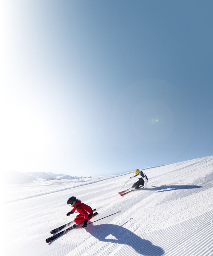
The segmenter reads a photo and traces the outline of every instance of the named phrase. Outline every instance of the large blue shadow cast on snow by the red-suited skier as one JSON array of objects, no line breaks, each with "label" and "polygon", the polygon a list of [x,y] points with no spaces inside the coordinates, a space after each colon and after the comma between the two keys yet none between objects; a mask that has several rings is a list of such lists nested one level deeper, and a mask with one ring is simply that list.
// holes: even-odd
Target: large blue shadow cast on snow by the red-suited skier
[{"label": "large blue shadow cast on snow by the red-suited skier", "polygon": [[[113,224],[100,224],[94,226],[93,224],[90,224],[86,230],[99,241],[128,245],[141,255],[160,256],[165,253],[161,247],[153,245],[150,241],[140,238],[122,226]],[[106,238],[108,236],[109,238]],[[112,236],[115,239],[113,239]]]}]

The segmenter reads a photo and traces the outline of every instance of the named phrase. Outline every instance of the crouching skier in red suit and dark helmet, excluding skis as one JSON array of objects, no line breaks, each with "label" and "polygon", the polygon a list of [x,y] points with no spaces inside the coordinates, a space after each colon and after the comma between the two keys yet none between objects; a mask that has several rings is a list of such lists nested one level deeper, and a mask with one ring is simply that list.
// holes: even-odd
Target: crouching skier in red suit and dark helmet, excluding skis
[{"label": "crouching skier in red suit and dark helmet, excluding skis", "polygon": [[72,211],[67,213],[67,216],[70,216],[75,212],[75,210],[77,210],[79,215],[74,219],[75,223],[78,225],[83,223],[82,227],[87,227],[87,221],[93,217],[92,208],[89,205],[82,203],[81,200],[77,199],[75,196],[70,197],[67,200],[67,204],[74,207]]}]

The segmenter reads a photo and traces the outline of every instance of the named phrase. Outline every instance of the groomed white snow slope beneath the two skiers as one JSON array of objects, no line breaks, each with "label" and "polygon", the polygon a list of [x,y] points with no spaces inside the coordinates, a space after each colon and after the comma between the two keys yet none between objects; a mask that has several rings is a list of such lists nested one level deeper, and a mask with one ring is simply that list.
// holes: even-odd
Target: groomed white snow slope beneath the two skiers
[{"label": "groomed white snow slope beneath the two skiers", "polygon": [[[4,255],[213,255],[213,156],[144,170],[147,186],[121,197],[131,174],[7,185]],[[95,222],[47,244],[68,223],[76,196],[96,208]],[[90,222],[90,221],[89,221]]]}]

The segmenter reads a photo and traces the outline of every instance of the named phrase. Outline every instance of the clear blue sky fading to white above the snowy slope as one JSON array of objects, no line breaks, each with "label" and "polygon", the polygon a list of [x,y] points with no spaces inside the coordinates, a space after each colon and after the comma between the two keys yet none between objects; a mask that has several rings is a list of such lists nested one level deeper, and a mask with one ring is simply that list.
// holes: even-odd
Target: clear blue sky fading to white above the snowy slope
[{"label": "clear blue sky fading to white above the snowy slope", "polygon": [[213,155],[213,2],[1,2],[0,163],[74,176]]}]

